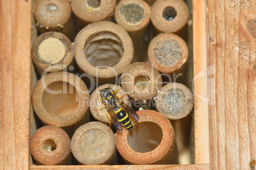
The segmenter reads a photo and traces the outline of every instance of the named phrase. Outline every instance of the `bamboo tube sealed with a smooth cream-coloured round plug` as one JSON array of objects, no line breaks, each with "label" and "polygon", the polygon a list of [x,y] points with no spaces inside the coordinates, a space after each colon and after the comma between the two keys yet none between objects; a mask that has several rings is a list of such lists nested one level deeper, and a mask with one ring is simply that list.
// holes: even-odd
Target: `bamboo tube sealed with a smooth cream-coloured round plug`
[{"label": "bamboo tube sealed with a smooth cream-coloured round plug", "polygon": [[48,72],[66,70],[74,67],[73,46],[68,37],[59,32],[46,32],[37,37],[32,44],[31,57],[39,77]]}]

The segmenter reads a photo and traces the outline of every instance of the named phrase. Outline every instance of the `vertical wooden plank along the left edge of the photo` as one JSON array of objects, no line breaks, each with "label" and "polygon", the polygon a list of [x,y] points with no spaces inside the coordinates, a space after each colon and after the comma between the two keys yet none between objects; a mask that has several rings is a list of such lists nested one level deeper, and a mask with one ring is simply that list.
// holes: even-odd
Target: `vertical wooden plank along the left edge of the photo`
[{"label": "vertical wooden plank along the left edge of the photo", "polygon": [[[29,168],[31,3],[0,1],[0,167]],[[24,16],[24,14],[26,16]]]}]

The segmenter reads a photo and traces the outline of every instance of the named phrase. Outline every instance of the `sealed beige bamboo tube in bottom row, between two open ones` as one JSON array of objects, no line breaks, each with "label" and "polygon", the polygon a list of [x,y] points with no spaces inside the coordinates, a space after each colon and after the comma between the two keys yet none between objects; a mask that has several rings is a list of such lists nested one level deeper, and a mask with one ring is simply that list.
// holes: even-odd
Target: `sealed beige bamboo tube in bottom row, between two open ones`
[{"label": "sealed beige bamboo tube in bottom row, between two open ones", "polygon": [[80,126],[72,137],[71,150],[80,164],[117,164],[114,133],[102,122]]}]

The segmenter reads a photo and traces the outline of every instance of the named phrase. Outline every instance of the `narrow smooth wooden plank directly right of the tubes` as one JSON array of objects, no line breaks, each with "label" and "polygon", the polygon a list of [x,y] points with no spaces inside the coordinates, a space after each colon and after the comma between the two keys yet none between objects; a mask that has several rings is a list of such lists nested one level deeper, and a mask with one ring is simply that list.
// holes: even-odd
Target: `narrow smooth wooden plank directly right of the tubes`
[{"label": "narrow smooth wooden plank directly right of the tubes", "polygon": [[209,164],[206,0],[193,1],[195,163]]}]

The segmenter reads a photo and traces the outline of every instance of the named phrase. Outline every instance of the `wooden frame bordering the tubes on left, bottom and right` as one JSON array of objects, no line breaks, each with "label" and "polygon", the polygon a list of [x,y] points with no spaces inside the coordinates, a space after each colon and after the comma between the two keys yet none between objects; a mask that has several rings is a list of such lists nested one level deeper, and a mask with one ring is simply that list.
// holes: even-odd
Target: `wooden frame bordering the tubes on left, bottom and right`
[{"label": "wooden frame bordering the tubes on left, bottom and right", "polygon": [[[193,1],[194,74],[208,67],[206,0]],[[110,166],[31,166],[29,157],[29,112],[31,112],[31,0],[0,1],[0,167],[4,169],[73,169],[110,168]],[[210,140],[208,77],[194,82],[195,93],[195,155],[194,165],[111,166],[209,169]],[[211,145],[212,146],[212,145]],[[213,164],[214,165],[214,164]]]}]

